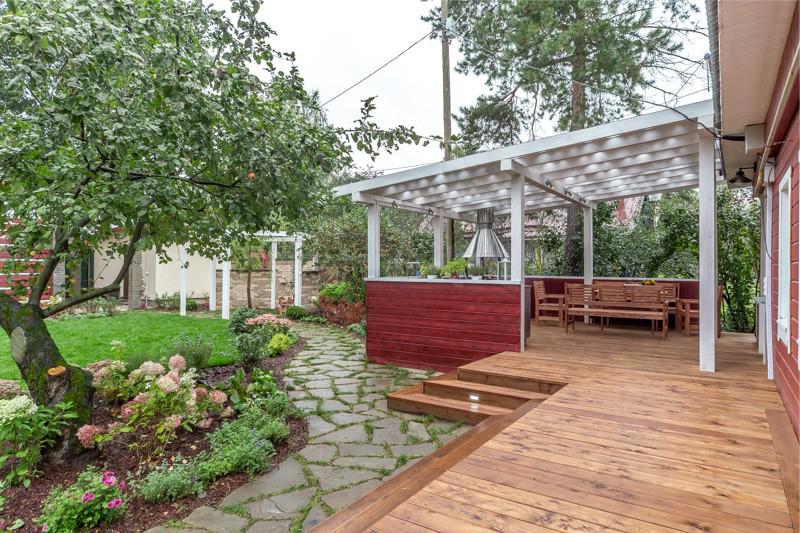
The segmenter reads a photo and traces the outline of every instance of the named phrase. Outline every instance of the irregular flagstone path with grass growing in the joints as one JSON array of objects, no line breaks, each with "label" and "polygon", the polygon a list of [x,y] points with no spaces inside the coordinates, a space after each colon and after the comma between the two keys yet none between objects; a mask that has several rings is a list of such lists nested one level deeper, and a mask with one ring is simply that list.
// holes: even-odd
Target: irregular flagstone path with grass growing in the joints
[{"label": "irregular flagstone path with grass growing in the joints", "polygon": [[285,369],[295,405],[308,414],[298,454],[174,526],[147,533],[305,531],[408,468],[468,427],[390,411],[386,394],[425,379],[419,370],[373,365],[339,330],[299,324],[306,347]]}]

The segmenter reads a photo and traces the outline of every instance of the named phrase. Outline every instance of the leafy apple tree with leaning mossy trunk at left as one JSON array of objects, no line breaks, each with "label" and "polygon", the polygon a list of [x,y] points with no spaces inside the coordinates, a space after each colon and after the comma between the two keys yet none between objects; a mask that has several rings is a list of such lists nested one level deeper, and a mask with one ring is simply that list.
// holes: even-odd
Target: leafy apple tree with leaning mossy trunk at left
[{"label": "leafy apple tree with leaning mossy trunk at left", "polygon": [[[371,100],[353,129],[326,124],[259,7],[234,0],[232,19],[201,0],[0,8],[0,227],[23,258],[5,269],[36,269],[30,287],[0,294],[0,325],[34,399],[71,401],[76,424],[90,417],[89,378],[44,318],[116,290],[137,250],[225,256],[233,239],[308,216],[323,177],[351,162],[348,141],[374,153],[418,140],[378,130]],[[101,243],[123,258],[113,282],[43,301],[57,265]]]}]

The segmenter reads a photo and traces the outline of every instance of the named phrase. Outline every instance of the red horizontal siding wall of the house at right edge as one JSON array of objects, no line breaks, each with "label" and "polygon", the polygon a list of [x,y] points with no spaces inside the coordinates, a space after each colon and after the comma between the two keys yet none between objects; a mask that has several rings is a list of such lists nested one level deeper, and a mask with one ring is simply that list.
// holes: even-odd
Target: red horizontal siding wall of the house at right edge
[{"label": "red horizontal siding wall of the house at right edge", "polygon": [[779,206],[778,187],[783,179],[786,170],[792,169],[792,233],[791,233],[791,268],[790,268],[790,341],[786,346],[783,341],[778,339],[778,329],[776,323],[772,324],[772,351],[775,374],[775,385],[783,398],[789,418],[794,425],[795,433],[800,439],[800,371],[798,371],[797,355],[797,284],[798,284],[798,197],[800,197],[800,183],[798,183],[798,137],[800,137],[800,125],[798,125],[798,114],[794,113],[791,126],[786,132],[783,144],[780,144],[780,152],[776,158],[775,182],[768,187],[772,187],[772,316],[778,316],[778,231],[779,231]]}]

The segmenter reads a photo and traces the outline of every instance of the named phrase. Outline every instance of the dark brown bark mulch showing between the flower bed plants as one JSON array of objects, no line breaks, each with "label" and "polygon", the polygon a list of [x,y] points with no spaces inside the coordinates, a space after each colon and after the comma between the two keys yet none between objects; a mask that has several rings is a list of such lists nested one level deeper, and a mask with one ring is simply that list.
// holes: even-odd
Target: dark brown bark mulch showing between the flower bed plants
[{"label": "dark brown bark mulch showing between the flower bed plants", "polygon": [[[282,368],[303,350],[304,345],[304,340],[300,339],[286,353],[279,357],[262,361],[261,368],[271,371],[278,385],[284,388]],[[214,385],[235,374],[237,368],[235,365],[209,368],[200,375],[198,381]],[[110,421],[110,417],[109,407],[102,400],[95,399],[93,422],[99,424],[107,423]],[[302,449],[308,442],[308,423],[305,419],[288,419],[286,422],[289,426],[289,437],[276,444],[275,456],[272,461],[273,467],[289,455]],[[204,438],[204,435],[207,432],[214,431],[219,425],[220,422],[217,421],[205,430],[195,428],[192,433],[179,432],[175,441],[167,447],[164,458],[169,459],[176,455],[188,458],[207,450],[208,441]],[[134,437],[131,436],[130,438]],[[78,473],[89,465],[94,465],[104,470],[114,470],[117,476],[125,479],[129,484],[131,480],[141,478],[147,473],[142,468],[144,465],[140,464],[136,456],[129,451],[128,442],[125,439],[115,439],[106,445],[102,456],[94,451],[85,453],[66,464],[43,464],[41,465],[42,474],[31,482],[30,487],[27,489],[22,486],[14,487],[6,490],[3,494],[6,502],[4,512],[0,513],[0,530],[3,528],[3,520],[6,522],[5,526],[8,527],[16,519],[21,518],[25,521],[25,526],[17,531],[41,531],[41,528],[33,520],[39,516],[44,499],[55,486],[74,482]],[[129,492],[125,501],[126,510],[123,519],[110,526],[96,528],[94,531],[132,533],[146,531],[167,520],[180,520],[196,507],[217,505],[231,491],[248,481],[247,476],[244,474],[232,474],[218,479],[206,489],[204,494],[171,503],[147,503]]]}]

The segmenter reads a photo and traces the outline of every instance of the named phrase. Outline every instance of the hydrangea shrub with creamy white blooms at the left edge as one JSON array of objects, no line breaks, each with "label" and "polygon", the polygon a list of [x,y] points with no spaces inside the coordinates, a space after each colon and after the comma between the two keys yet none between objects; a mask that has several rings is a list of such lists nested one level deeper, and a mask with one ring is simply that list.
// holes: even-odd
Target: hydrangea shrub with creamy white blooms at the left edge
[{"label": "hydrangea shrub with creamy white blooms at the left edge", "polygon": [[0,471],[6,471],[5,482],[29,486],[42,451],[56,442],[61,429],[76,416],[68,402],[50,408],[37,406],[30,396],[0,400]]}]

